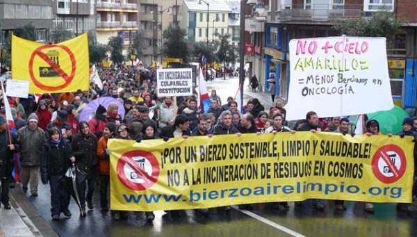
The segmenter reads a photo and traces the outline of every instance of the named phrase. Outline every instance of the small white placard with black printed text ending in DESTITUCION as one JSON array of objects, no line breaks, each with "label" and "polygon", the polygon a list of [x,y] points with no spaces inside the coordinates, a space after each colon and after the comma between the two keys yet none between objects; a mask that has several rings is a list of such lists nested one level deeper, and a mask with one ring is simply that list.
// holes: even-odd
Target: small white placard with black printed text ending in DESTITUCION
[{"label": "small white placard with black printed text ending in DESTITUCION", "polygon": [[193,95],[191,68],[160,69],[156,72],[158,97]]}]

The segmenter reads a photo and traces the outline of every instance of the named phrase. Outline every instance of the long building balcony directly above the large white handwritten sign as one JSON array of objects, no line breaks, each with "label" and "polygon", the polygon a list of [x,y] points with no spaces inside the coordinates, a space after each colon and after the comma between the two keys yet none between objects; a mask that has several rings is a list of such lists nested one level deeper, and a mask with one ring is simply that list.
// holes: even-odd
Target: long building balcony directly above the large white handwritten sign
[{"label": "long building balcony directly above the large white handwritten sign", "polygon": [[311,4],[281,6],[277,12],[277,20],[281,22],[332,22],[361,16],[361,5],[336,6],[332,4]]}]

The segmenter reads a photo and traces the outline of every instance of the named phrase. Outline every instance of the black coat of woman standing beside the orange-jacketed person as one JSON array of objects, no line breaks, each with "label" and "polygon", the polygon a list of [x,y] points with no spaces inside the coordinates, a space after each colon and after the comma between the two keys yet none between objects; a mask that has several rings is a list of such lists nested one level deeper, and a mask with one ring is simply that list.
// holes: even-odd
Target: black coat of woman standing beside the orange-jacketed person
[{"label": "black coat of woman standing beside the orange-jacketed person", "polygon": [[87,174],[87,179],[97,177],[99,158],[97,157],[96,136],[92,133],[88,136],[76,133],[75,137],[72,139],[71,146],[79,170]]}]

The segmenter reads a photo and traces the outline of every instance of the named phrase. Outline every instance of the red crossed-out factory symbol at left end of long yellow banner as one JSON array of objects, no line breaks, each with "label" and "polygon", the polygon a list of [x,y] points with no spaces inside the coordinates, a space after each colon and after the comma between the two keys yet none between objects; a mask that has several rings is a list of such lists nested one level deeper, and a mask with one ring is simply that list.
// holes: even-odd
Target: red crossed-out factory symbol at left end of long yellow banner
[{"label": "red crossed-out factory symbol at left end of long yellow banner", "polygon": [[117,177],[131,190],[151,188],[159,177],[159,163],[154,154],[146,151],[130,151],[117,161]]}]

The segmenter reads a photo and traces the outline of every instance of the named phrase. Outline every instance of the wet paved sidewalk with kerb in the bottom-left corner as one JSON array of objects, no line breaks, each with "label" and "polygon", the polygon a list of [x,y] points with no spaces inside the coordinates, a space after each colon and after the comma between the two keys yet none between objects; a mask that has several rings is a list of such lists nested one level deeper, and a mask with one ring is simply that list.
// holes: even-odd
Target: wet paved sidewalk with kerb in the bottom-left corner
[{"label": "wet paved sidewalk with kerb in the bottom-left corner", "polygon": [[58,236],[22,193],[17,184],[10,189],[10,206],[0,209],[0,237],[7,236]]}]

